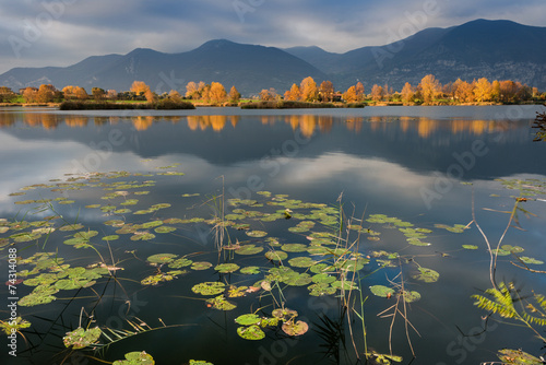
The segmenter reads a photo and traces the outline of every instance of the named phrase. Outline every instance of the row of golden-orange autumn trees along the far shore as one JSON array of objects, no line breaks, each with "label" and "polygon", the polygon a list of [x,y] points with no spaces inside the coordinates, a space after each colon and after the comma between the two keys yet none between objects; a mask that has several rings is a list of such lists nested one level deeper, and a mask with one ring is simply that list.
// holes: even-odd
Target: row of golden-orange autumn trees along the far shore
[{"label": "row of golden-orange autumn trees along the far shore", "polygon": [[[117,92],[92,87],[91,93],[82,86],[66,86],[57,90],[51,84],[25,87],[14,92],[0,86],[0,103],[3,106],[47,105],[61,109],[192,109],[195,106],[240,106],[242,108],[310,108],[310,107],[364,107],[366,105],[467,105],[467,104],[543,104],[546,93],[518,81],[486,78],[472,82],[461,79],[441,84],[432,74],[424,76],[417,85],[408,82],[401,91],[388,84],[375,84],[366,92],[361,82],[345,92],[335,91],[331,81],[320,84],[308,76],[299,84],[278,93],[274,89],[262,90],[250,98],[241,98],[235,86],[229,92],[219,82],[210,84],[191,81],[186,93],[171,90],[158,94],[142,81],[134,81],[129,91]],[[259,102],[259,103],[257,103]]]}]

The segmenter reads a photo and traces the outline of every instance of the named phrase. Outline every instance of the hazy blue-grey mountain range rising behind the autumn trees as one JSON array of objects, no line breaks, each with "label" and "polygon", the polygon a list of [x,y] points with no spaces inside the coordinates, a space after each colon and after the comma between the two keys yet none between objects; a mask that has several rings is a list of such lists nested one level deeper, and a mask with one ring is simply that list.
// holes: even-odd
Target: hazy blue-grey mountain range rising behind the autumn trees
[{"label": "hazy blue-grey mountain range rising behind the autumn trees", "polygon": [[274,87],[280,93],[311,76],[330,80],[344,91],[361,81],[401,90],[432,73],[447,83],[513,80],[546,90],[546,27],[511,21],[476,20],[447,28],[426,28],[381,47],[363,47],[345,54],[320,47],[280,49],[210,40],[187,52],[165,54],[138,48],[127,55],[93,56],[69,67],[14,68],[0,75],[0,85],[19,90],[51,83],[127,91],[135,80],[162,93],[186,91],[190,81],[235,85],[244,95]]}]

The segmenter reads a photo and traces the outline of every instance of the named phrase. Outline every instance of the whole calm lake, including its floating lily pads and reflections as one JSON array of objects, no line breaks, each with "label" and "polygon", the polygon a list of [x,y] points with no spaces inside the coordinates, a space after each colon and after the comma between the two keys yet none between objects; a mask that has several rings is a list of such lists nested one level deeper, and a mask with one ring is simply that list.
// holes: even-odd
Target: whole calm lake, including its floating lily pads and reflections
[{"label": "whole calm lake, including its floating lily pads and reflections", "polygon": [[1,109],[0,362],[539,356],[544,109]]}]

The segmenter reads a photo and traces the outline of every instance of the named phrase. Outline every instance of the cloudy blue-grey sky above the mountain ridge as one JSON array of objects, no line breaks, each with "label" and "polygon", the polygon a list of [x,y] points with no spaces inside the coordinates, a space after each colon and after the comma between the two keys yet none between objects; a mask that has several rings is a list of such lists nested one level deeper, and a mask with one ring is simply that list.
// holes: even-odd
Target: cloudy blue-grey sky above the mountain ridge
[{"label": "cloudy blue-grey sky above the mountain ridge", "polygon": [[0,0],[0,73],[206,40],[344,52],[475,19],[546,26],[544,0]]}]

